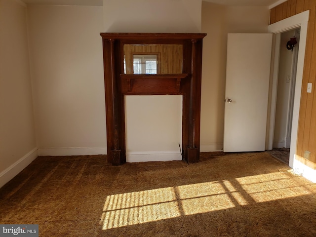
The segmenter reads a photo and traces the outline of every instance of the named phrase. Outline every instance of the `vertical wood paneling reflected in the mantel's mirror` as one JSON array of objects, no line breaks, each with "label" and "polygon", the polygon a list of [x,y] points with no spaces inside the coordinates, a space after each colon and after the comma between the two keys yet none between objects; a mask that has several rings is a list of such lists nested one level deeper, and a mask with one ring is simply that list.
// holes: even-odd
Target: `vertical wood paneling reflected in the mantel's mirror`
[{"label": "vertical wood paneling reflected in the mantel's mirror", "polygon": [[182,44],[124,44],[126,74],[133,74],[133,54],[158,54],[158,74],[182,73]]}]

